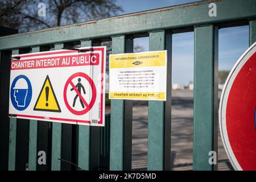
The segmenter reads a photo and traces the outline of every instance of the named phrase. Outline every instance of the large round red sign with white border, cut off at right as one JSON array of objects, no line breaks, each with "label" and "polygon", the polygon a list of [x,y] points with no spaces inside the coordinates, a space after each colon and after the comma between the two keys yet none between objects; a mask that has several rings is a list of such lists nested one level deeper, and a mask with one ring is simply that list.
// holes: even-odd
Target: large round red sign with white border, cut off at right
[{"label": "large round red sign with white border, cut off at right", "polygon": [[234,65],[222,91],[220,133],[236,170],[256,170],[256,42]]}]

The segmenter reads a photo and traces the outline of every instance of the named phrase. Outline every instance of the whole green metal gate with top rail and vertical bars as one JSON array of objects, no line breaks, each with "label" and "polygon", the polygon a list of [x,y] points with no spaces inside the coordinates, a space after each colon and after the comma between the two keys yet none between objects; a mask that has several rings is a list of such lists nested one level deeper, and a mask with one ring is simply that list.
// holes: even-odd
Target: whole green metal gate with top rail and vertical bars
[{"label": "whole green metal gate with top rail and vertical bars", "polygon": [[[209,16],[209,3],[216,3],[217,16]],[[168,51],[167,101],[148,102],[148,170],[171,168],[171,52],[172,34],[195,32],[193,169],[213,170],[208,163],[209,151],[217,151],[218,109],[218,29],[249,24],[250,44],[256,41],[255,0],[215,0],[189,3],[163,9],[115,16],[4,36],[1,51],[1,110],[8,109],[10,69],[6,55],[28,51],[39,52],[51,47],[93,46],[112,40],[112,53],[133,52],[133,39],[149,36],[150,51]],[[6,71],[5,71],[6,73]],[[41,121],[22,121],[1,115],[1,122],[10,122],[9,163],[6,169],[71,170],[65,159],[82,169],[98,167],[110,170],[131,169],[132,102],[112,100],[108,127],[72,126]],[[4,113],[4,112],[3,112]],[[109,115],[106,115],[109,117]],[[110,135],[110,140],[106,136]],[[27,137],[26,137],[27,136]],[[108,144],[109,142],[109,144]],[[28,144],[27,144],[28,143]],[[26,144],[28,147],[26,147]],[[37,151],[47,151],[48,166],[37,163]],[[7,156],[6,156],[7,157]]]}]

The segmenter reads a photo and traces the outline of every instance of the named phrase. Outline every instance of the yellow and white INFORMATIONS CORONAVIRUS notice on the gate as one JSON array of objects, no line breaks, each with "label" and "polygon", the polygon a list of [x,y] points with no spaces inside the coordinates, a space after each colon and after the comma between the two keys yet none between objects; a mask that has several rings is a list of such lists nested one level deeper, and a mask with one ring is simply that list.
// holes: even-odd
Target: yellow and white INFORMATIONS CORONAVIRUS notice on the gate
[{"label": "yellow and white INFORMATIONS CORONAVIRUS notice on the gate", "polygon": [[109,99],[166,101],[167,51],[110,55]]}]

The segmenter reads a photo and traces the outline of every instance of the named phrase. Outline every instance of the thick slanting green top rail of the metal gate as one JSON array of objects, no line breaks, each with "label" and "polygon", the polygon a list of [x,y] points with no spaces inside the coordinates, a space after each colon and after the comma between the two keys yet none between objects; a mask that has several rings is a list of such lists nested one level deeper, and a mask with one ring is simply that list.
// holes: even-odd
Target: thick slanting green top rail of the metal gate
[{"label": "thick slanting green top rail of the metal gate", "polygon": [[[210,17],[208,15],[209,2],[216,3],[216,17]],[[256,17],[255,0],[216,0],[209,2],[195,2],[187,5],[34,31],[19,34],[18,36],[6,36],[0,38],[0,50],[113,35],[134,34],[137,32],[158,30],[159,28],[193,27],[199,24],[231,22]]]}]

